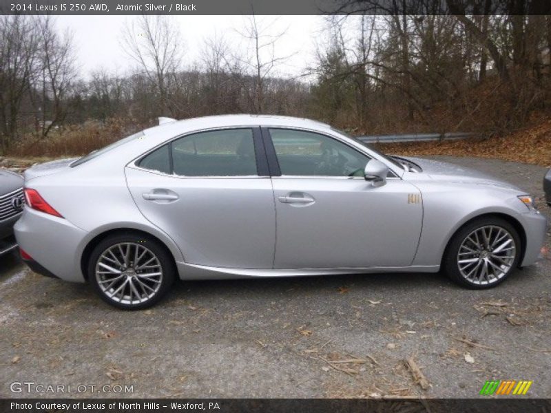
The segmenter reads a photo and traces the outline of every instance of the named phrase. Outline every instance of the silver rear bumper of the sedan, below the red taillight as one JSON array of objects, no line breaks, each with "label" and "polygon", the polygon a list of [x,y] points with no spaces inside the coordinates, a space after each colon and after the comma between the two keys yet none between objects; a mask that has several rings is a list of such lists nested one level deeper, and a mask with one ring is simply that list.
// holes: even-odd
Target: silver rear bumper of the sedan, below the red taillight
[{"label": "silver rear bumper of the sedan, below the red taillight", "polygon": [[79,245],[87,234],[69,221],[25,207],[14,226],[17,243],[32,257],[25,262],[39,274],[85,282]]}]

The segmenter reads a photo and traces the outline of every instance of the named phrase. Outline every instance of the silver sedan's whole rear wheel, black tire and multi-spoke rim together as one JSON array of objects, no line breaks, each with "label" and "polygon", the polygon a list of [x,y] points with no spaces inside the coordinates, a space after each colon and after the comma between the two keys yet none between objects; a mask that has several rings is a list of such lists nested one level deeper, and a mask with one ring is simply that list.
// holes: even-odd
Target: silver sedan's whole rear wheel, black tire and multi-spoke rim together
[{"label": "silver sedan's whole rear wheel, black tire and multi-spoke rim together", "polygon": [[176,268],[165,246],[152,237],[119,233],[96,245],[87,274],[107,304],[123,310],[142,310],[163,298],[174,283]]}]

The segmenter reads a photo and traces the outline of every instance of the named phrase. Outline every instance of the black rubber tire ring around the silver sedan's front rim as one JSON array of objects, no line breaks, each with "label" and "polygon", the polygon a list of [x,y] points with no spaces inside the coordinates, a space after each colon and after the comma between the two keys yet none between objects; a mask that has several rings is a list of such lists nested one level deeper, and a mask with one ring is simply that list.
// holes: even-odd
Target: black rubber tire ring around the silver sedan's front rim
[{"label": "black rubber tire ring around the silver sedan's front rim", "polygon": [[[510,233],[513,237],[514,244],[515,244],[515,257],[514,261],[512,263],[511,268],[506,273],[506,275],[503,275],[500,279],[497,280],[497,282],[493,282],[492,284],[472,284],[468,282],[463,275],[461,275],[461,272],[459,271],[459,268],[457,266],[457,253],[459,252],[459,246],[461,246],[461,242],[465,239],[467,235],[472,233],[472,231],[475,231],[475,229],[480,228],[481,226],[487,226],[487,225],[494,225],[499,226],[502,229],[505,229]],[[522,251],[522,244],[521,244],[521,238],[519,236],[518,231],[506,220],[503,220],[501,218],[497,217],[488,217],[488,218],[478,218],[476,220],[472,220],[472,222],[468,222],[464,226],[461,227],[452,237],[450,240],[450,243],[448,244],[448,247],[446,248],[446,252],[444,253],[444,260],[442,262],[442,266],[444,269],[444,272],[448,277],[453,279],[453,281],[457,282],[458,284],[461,284],[462,286],[466,286],[468,288],[472,288],[475,290],[485,290],[486,288],[492,288],[499,284],[501,284],[507,277],[509,277],[510,273],[514,271],[514,268],[517,268],[519,265],[519,260],[521,257],[521,251]]]}]

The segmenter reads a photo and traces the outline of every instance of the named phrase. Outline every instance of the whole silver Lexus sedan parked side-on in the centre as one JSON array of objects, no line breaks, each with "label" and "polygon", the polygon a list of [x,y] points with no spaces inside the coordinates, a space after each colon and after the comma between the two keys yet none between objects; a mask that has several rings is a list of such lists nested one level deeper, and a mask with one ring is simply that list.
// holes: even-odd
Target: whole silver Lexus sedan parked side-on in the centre
[{"label": "whole silver Lexus sedan parked side-on in the centre", "polygon": [[25,172],[15,234],[30,268],[132,309],[176,277],[442,268],[488,288],[539,258],[545,218],[507,182],[385,156],[313,120],[161,119]]}]

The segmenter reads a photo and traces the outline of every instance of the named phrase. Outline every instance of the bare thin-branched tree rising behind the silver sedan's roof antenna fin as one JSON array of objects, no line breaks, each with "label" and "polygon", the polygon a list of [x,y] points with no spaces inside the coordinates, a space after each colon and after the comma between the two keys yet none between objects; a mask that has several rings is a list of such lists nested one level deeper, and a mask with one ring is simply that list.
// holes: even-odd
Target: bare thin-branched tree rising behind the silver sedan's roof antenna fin
[{"label": "bare thin-branched tree rising behind the silver sedan's roof antenna fin", "polygon": [[125,52],[141,67],[159,94],[160,114],[169,109],[169,76],[180,66],[182,41],[178,28],[166,16],[142,15],[127,23],[121,44]]}]

